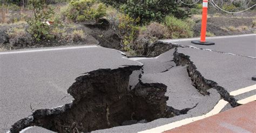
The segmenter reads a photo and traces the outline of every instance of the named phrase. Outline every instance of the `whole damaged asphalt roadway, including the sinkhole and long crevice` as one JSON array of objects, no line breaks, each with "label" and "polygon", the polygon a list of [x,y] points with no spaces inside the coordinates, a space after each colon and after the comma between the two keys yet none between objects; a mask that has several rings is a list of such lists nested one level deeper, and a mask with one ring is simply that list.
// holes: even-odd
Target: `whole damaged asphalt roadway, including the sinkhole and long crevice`
[{"label": "whole damaged asphalt roadway, including the sinkhole and long crevice", "polygon": [[97,46],[0,53],[1,130],[137,132],[206,114],[220,99],[223,110],[239,106],[255,94],[230,94],[255,85],[255,35],[225,39],[246,43],[165,40],[152,58]]}]

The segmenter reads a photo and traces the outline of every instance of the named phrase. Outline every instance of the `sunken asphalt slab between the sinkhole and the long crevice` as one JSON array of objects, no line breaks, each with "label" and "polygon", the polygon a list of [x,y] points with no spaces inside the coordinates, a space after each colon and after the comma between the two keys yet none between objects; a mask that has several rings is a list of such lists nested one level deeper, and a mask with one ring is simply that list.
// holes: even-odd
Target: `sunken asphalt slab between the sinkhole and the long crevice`
[{"label": "sunken asphalt slab between the sinkhole and the long crevice", "polygon": [[[180,82],[182,81],[182,82]],[[174,109],[196,107],[204,95],[192,85],[186,67],[174,67],[166,72],[151,73],[142,76],[143,83],[163,83],[167,85],[165,95],[169,97],[167,105]]]}]

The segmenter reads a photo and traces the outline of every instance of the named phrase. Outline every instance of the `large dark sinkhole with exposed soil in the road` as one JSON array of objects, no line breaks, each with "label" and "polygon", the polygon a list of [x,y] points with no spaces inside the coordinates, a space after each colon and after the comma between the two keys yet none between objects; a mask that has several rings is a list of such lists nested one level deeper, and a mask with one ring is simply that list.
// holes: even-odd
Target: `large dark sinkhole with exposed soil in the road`
[{"label": "large dark sinkhole with exposed soil in the road", "polygon": [[71,104],[38,109],[12,125],[10,131],[36,125],[57,132],[90,132],[176,115],[176,109],[166,106],[166,85],[139,82],[129,89],[131,73],[140,69],[133,65],[85,73],[68,89],[75,98]]}]

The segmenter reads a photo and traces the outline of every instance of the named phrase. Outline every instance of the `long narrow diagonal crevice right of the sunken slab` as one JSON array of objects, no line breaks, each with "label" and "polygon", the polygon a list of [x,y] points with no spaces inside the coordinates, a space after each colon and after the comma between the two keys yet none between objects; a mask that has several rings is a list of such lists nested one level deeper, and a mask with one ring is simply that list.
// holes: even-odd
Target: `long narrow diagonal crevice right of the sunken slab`
[{"label": "long narrow diagonal crevice right of the sunken slab", "polygon": [[177,48],[173,53],[174,62],[177,65],[187,66],[188,75],[191,77],[192,84],[197,90],[204,95],[209,94],[207,92],[208,89],[214,88],[221,95],[221,98],[228,101],[232,107],[237,107],[240,104],[237,103],[237,99],[235,99],[232,95],[230,95],[225,88],[218,86],[218,84],[212,80],[205,79],[201,73],[197,70],[196,65],[190,60],[190,56],[184,55],[182,53],[178,53]]}]

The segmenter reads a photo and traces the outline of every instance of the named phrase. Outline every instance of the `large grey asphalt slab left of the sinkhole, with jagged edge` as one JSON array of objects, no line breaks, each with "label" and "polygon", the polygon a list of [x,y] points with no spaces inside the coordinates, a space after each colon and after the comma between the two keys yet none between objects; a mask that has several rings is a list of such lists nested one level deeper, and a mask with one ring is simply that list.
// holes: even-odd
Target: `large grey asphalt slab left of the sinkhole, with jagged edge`
[{"label": "large grey asphalt slab left of the sinkhole, with jagged edge", "polygon": [[67,90],[85,72],[142,66],[118,50],[102,47],[0,54],[0,62],[1,131],[36,109],[70,103],[73,98]]}]

